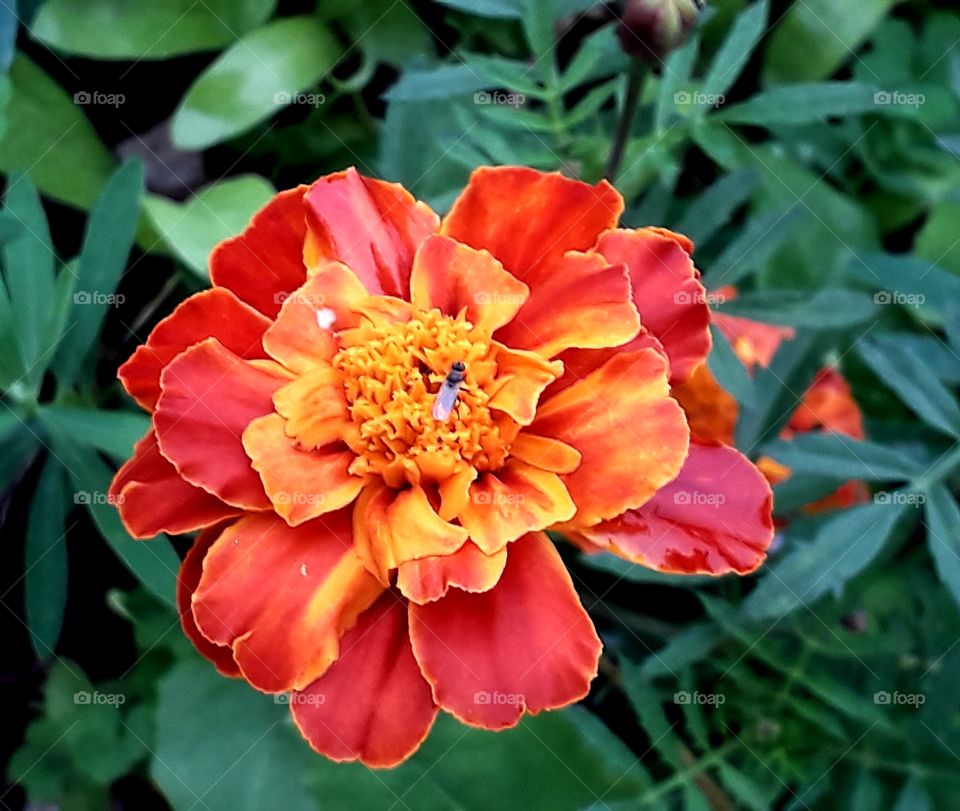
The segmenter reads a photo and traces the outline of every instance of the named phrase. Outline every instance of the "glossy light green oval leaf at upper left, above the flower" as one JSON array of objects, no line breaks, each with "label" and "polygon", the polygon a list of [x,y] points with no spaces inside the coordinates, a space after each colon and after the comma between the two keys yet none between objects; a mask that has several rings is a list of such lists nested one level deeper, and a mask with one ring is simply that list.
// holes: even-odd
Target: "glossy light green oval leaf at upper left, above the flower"
[{"label": "glossy light green oval leaf at upper left, above the flower", "polygon": [[341,53],[312,17],[286,17],[246,34],[187,90],[173,116],[174,144],[206,149],[246,132],[319,82]]}]

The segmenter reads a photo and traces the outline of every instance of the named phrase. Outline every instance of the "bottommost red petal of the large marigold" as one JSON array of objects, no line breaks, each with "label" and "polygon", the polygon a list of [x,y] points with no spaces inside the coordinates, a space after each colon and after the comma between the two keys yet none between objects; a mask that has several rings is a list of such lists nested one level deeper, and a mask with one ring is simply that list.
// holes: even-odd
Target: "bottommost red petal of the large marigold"
[{"label": "bottommost red petal of the large marigold", "polygon": [[310,746],[331,760],[396,766],[427,737],[437,716],[430,685],[410,647],[407,612],[389,592],[340,643],[340,658],[290,711]]}]

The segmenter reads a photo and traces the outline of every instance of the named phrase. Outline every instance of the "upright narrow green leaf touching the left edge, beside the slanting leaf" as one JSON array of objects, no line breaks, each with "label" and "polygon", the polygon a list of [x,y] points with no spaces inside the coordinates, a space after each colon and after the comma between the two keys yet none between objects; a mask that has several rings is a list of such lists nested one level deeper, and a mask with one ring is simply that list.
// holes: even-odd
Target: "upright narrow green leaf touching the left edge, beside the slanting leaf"
[{"label": "upright narrow green leaf touching the left edge, beside the slanting leaf", "polygon": [[23,225],[3,251],[4,279],[16,318],[13,337],[30,381],[39,380],[52,360],[43,346],[56,285],[56,256],[40,197],[26,176],[10,178],[4,211]]}]

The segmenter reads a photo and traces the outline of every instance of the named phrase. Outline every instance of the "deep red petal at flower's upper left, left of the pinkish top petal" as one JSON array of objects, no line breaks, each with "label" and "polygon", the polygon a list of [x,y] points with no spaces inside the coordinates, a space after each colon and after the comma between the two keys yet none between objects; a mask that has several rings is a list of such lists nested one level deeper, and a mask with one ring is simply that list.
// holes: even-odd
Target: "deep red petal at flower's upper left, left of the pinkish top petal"
[{"label": "deep red petal at flower's upper left, left of the pinkish top petal", "polygon": [[284,295],[307,278],[303,241],[307,235],[303,194],[306,186],[280,192],[261,208],[238,237],[210,254],[210,280],[236,293],[273,318]]}]

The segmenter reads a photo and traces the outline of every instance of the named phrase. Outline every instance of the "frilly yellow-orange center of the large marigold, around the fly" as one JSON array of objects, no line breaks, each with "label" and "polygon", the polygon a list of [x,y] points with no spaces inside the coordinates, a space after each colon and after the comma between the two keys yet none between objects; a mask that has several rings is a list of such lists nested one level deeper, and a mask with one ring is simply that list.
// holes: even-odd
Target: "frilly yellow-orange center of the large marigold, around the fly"
[{"label": "frilly yellow-orange center of the large marigold, around the fly", "polygon": [[[377,473],[400,486],[442,481],[465,466],[503,465],[513,421],[488,407],[497,369],[493,344],[462,313],[421,311],[340,338],[333,365],[355,427],[346,437],[358,457],[352,473]],[[465,372],[456,402],[448,418],[435,419],[438,393],[457,361]]]}]

